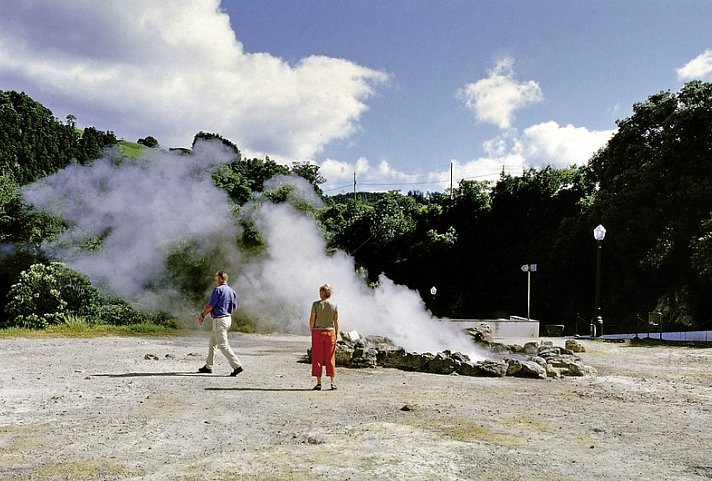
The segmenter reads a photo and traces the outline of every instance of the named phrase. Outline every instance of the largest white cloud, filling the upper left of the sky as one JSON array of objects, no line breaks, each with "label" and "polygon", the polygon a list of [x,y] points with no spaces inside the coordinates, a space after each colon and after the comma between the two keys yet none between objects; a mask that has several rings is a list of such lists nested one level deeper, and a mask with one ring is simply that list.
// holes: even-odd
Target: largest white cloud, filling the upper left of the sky
[{"label": "largest white cloud, filling the upper left of the sky", "polygon": [[[220,133],[246,153],[311,158],[358,130],[388,81],[347,60],[247,53],[219,0],[0,0],[0,83],[79,125],[189,146]],[[110,125],[103,125],[110,121]]]}]

